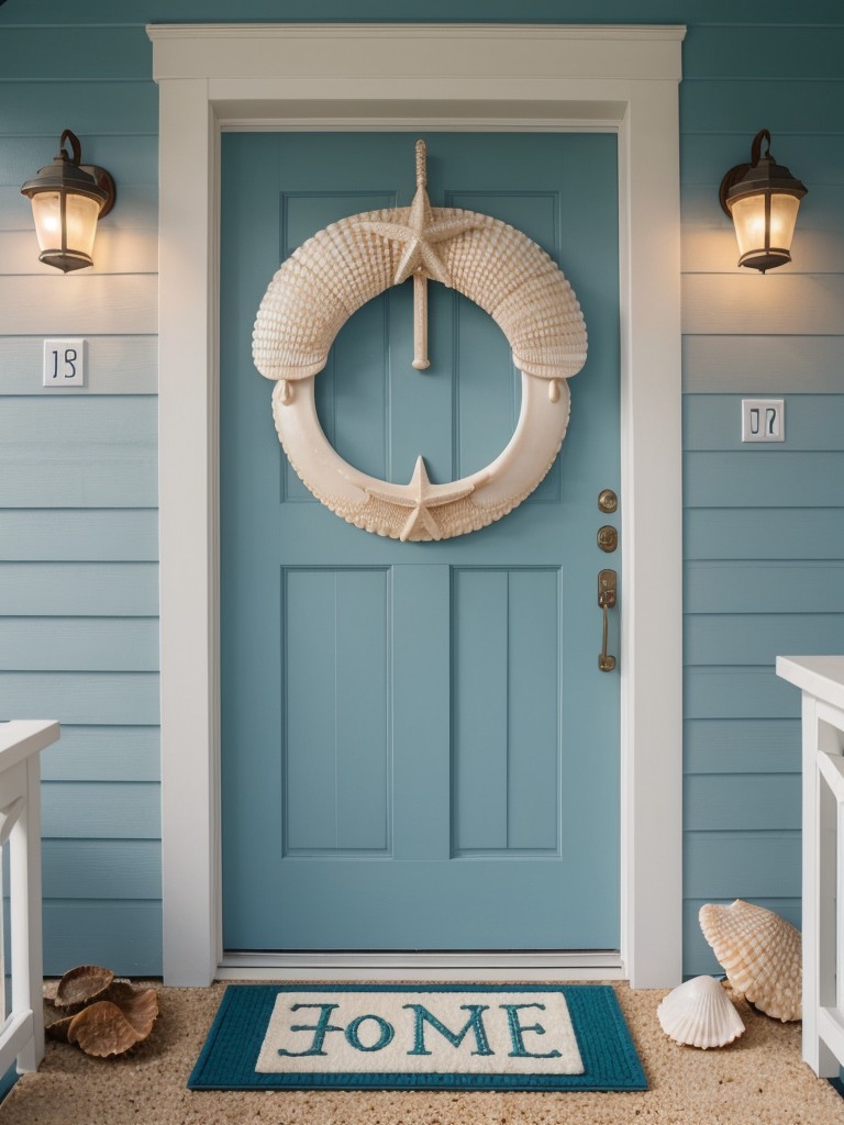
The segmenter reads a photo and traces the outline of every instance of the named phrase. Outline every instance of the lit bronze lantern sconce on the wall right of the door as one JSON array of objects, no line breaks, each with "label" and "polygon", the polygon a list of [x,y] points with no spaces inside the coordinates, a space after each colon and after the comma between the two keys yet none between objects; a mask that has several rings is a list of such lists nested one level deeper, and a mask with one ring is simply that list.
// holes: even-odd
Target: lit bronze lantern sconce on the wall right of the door
[{"label": "lit bronze lantern sconce on the wall right of the door", "polygon": [[[767,145],[764,156],[763,142]],[[751,163],[731,168],[719,192],[721,208],[736,226],[739,266],[764,273],[791,261],[797,212],[807,190],[774,162],[771,134],[761,129],[753,140]]]}]

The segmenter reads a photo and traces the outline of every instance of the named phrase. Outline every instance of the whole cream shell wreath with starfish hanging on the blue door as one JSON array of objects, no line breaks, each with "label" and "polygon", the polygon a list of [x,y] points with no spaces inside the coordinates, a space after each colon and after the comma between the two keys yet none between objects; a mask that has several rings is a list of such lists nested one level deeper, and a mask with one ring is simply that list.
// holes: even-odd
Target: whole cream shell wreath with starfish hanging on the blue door
[{"label": "whole cream shell wreath with starfish hanging on the blue door", "polygon": [[[299,246],[270,282],[252,341],[255,367],[278,382],[276,429],[302,480],[343,520],[402,541],[477,531],[529,496],[565,436],[566,379],[586,359],[583,314],[555,262],[527,235],[488,215],[432,208],[421,145],[413,205],[352,215]],[[368,300],[408,277],[416,296],[414,367],[428,366],[430,278],[492,316],[522,372],[521,413],[509,444],[486,468],[450,484],[431,484],[422,457],[407,485],[367,476],[332,448],[316,414],[314,379],[340,328]]]}]

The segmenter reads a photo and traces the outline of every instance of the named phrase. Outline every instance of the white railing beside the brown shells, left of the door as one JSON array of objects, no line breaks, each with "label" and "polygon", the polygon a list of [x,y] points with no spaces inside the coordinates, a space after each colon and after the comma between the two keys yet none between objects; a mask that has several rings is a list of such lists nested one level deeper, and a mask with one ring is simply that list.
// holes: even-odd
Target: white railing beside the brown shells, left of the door
[{"label": "white railing beside the brown shells, left of the door", "polygon": [[[0,1076],[44,1058],[42,1009],[41,770],[38,755],[59,738],[57,722],[0,723],[0,853],[9,848],[11,1004],[6,1015],[3,888],[0,885]],[[0,864],[0,883],[2,865]]]}]

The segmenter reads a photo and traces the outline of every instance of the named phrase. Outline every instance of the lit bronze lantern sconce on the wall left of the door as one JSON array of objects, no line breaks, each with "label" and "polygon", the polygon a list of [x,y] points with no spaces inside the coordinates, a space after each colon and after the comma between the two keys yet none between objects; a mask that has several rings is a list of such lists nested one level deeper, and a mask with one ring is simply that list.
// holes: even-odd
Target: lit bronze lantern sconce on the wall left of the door
[{"label": "lit bronze lantern sconce on the wall left of the door", "polygon": [[[65,150],[71,146],[71,155]],[[63,273],[93,266],[91,251],[97,220],[114,207],[116,188],[109,173],[96,164],[82,164],[79,137],[65,129],[59,155],[38,170],[20,189],[33,205],[38,261]]]}]

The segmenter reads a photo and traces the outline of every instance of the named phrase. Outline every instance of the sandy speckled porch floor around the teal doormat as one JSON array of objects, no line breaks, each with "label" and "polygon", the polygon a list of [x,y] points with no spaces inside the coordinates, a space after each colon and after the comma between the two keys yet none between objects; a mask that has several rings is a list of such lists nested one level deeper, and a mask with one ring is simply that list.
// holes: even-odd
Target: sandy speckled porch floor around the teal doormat
[{"label": "sandy speckled porch floor around the teal doormat", "polygon": [[800,1025],[739,1002],[747,1030],[720,1051],[671,1043],[664,992],[618,986],[646,1094],[191,1092],[186,1088],[225,986],[160,988],[152,1036],[100,1061],[48,1043],[0,1106],[0,1125],[844,1125],[844,1098],[800,1059]]}]

